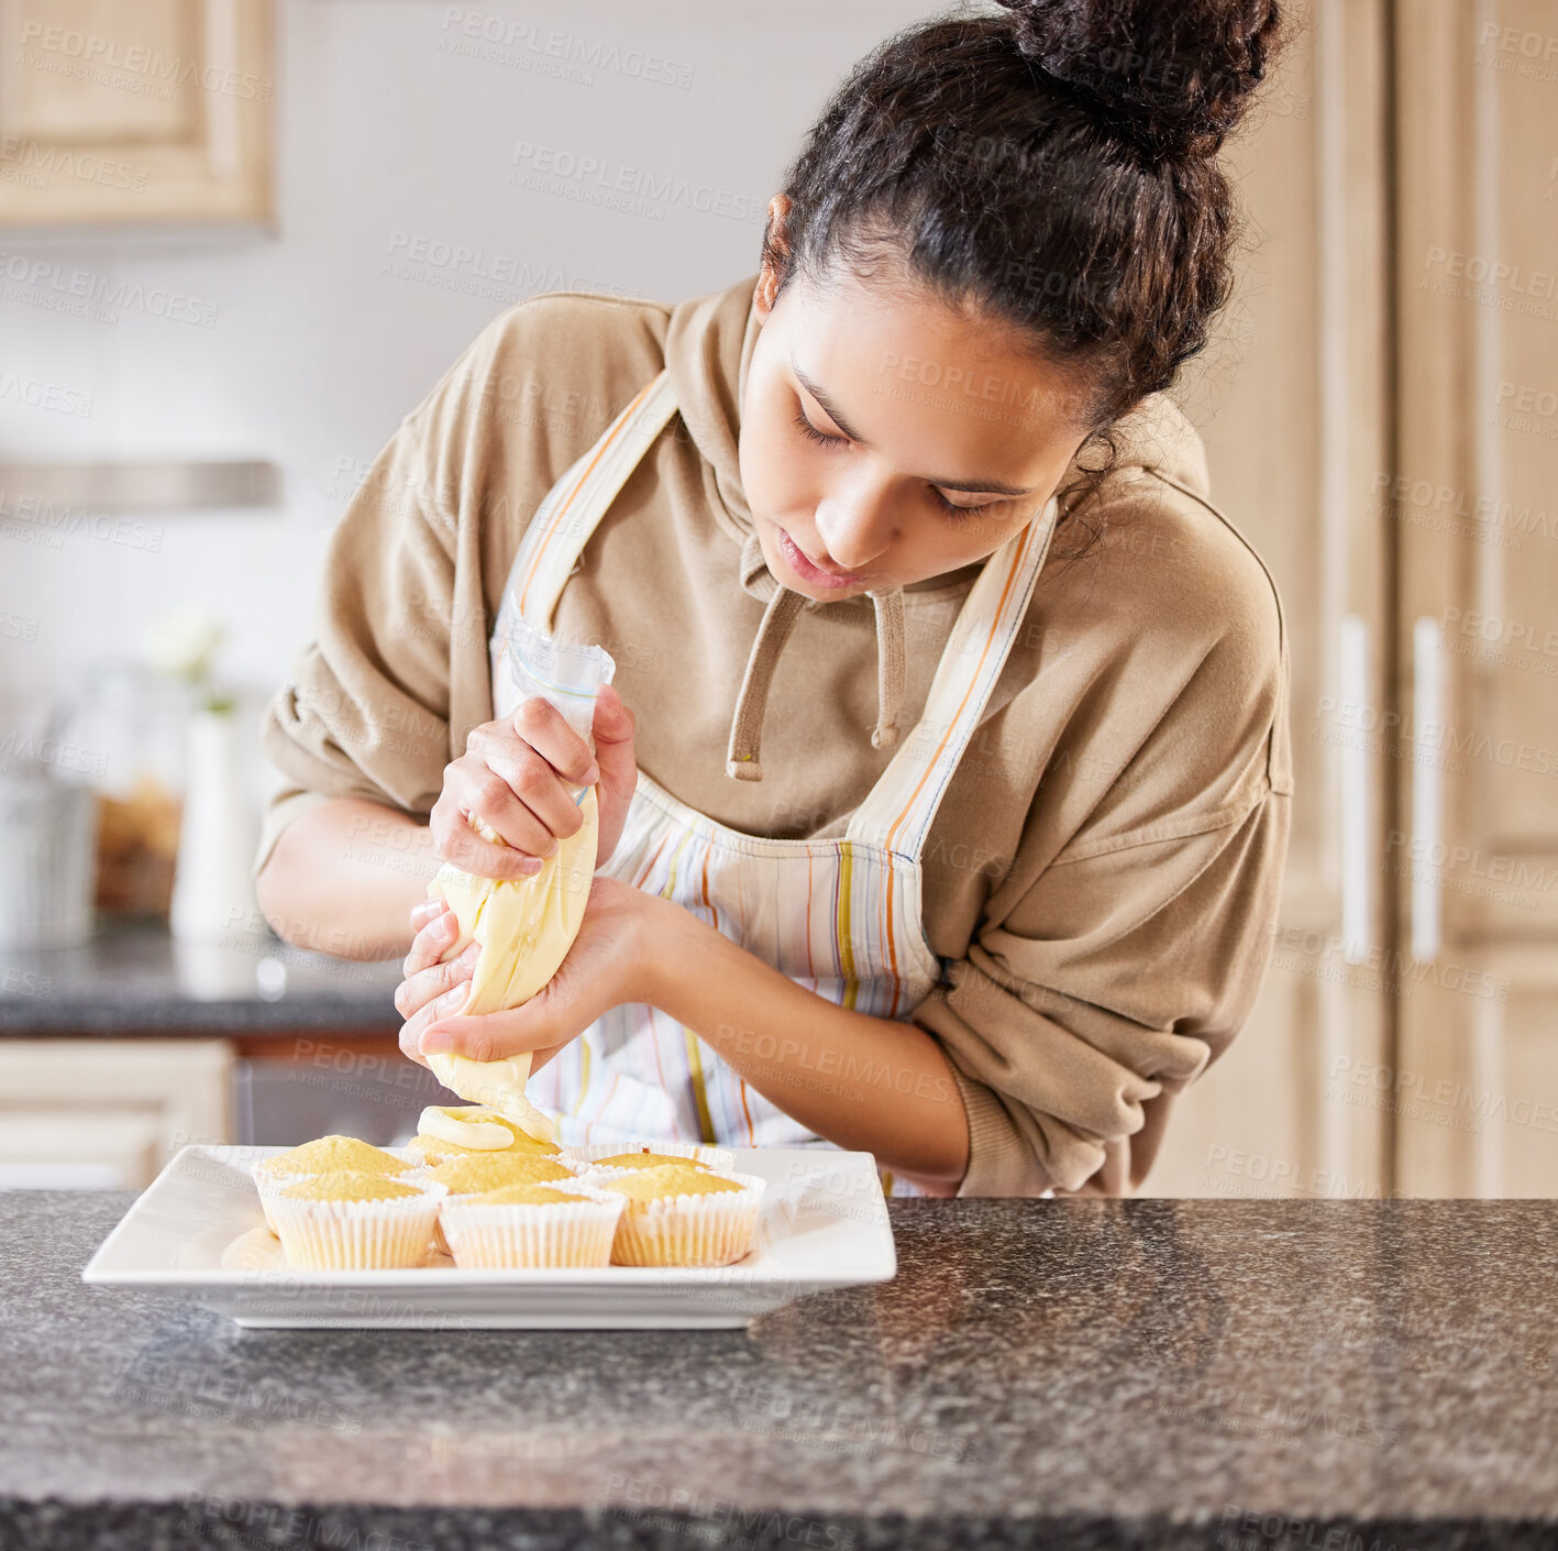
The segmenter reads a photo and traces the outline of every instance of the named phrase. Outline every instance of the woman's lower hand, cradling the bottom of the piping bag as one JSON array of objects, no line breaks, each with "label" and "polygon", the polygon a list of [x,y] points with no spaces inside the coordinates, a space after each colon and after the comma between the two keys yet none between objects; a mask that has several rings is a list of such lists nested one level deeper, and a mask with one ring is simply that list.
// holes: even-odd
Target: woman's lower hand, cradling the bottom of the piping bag
[{"label": "woman's lower hand, cradling the bottom of the piping bag", "polygon": [[439,1051],[474,1062],[530,1051],[531,1069],[545,1066],[601,1013],[648,999],[654,968],[651,912],[661,904],[620,878],[592,878],[578,937],[558,973],[528,1002],[506,1012],[475,1018],[458,1013],[475,973],[480,951],[475,945],[461,954],[463,963],[436,963],[413,973],[408,959],[407,979],[396,993],[396,1007],[407,1019],[400,1049],[424,1066]]}]

